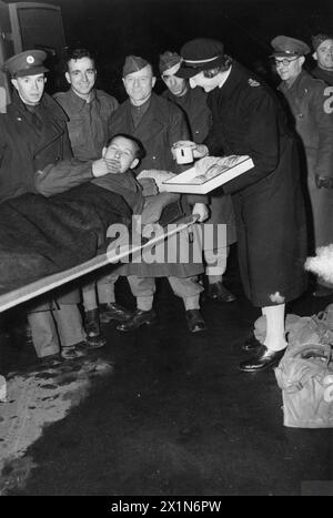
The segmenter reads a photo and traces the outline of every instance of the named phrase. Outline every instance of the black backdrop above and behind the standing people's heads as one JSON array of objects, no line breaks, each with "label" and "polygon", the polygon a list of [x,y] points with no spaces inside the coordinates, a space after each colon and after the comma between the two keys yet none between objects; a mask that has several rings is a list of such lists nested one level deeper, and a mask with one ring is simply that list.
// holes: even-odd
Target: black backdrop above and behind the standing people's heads
[{"label": "black backdrop above and behind the standing people's heads", "polygon": [[[160,52],[179,50],[192,38],[211,37],[222,40],[226,52],[235,59],[274,80],[268,59],[274,35],[287,34],[310,43],[313,33],[333,32],[331,0],[51,0],[49,3],[61,7],[67,44],[94,52],[99,87],[120,100],[124,95],[121,69],[129,53],[145,57],[157,67]],[[158,83],[158,90],[161,87]]]}]

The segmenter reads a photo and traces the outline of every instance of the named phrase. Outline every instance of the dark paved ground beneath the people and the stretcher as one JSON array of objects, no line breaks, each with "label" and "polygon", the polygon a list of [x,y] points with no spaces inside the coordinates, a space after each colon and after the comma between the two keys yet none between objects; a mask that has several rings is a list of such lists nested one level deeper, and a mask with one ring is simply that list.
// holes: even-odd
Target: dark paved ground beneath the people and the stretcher
[{"label": "dark paved ground beneath the people and the stretcher", "polygon": [[[105,327],[108,345],[93,353],[89,368],[82,360],[62,366],[67,380],[49,373],[53,385],[44,383],[46,373],[36,374],[31,346],[2,335],[3,374],[16,369],[28,383],[34,368],[44,389],[72,387],[78,372],[81,382],[90,380],[83,393],[79,387],[80,397],[73,397],[78,386],[71,388],[73,404],[63,415],[50,419],[20,454],[13,451],[2,470],[2,492],[301,495],[311,492],[314,481],[332,481],[332,430],[284,427],[273,370],[238,370],[246,356],[242,343],[259,312],[242,295],[233,256],[228,281],[238,302],[204,302],[208,331],[198,334],[189,333],[181,301],[161,281],[157,324],[131,334]],[[133,305],[124,281],[118,290],[119,299]],[[305,295],[289,313],[312,315],[330,302]],[[112,368],[92,376],[97,364]],[[38,405],[27,405],[37,412]]]}]

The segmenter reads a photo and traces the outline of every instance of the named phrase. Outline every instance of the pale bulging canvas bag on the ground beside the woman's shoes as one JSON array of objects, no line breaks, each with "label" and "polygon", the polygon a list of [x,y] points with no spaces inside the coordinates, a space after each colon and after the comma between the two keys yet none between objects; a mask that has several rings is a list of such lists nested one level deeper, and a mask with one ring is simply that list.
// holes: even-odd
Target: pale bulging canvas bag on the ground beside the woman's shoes
[{"label": "pale bulging canvas bag on the ground beside the woman's shoes", "polygon": [[282,389],[284,426],[333,427],[333,362],[330,345],[290,345],[274,372]]}]

